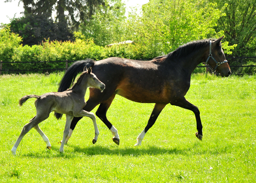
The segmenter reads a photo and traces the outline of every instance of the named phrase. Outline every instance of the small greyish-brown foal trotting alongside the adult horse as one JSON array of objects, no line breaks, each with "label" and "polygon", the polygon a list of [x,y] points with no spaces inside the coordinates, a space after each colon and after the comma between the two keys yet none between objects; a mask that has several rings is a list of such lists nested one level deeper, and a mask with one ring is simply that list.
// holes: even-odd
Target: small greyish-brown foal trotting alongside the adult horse
[{"label": "small greyish-brown foal trotting alongside the adult horse", "polygon": [[18,137],[11,150],[13,155],[16,154],[16,150],[22,138],[26,135],[26,133],[29,132],[29,130],[31,130],[31,128],[35,128],[44,139],[44,142],[46,142],[47,148],[51,148],[49,139],[39,128],[38,124],[46,120],[52,111],[58,112],[60,114],[66,114],[66,125],[63,133],[63,139],[60,145],[60,152],[64,151],[64,143],[68,136],[73,117],[88,116],[92,119],[95,130],[95,137],[92,140],[92,143],[95,144],[98,139],[99,131],[96,124],[95,115],[92,112],[87,112],[82,109],[86,105],[84,96],[88,87],[93,87],[103,91],[105,89],[105,85],[100,80],[98,80],[98,78],[91,71],[91,67],[88,69],[88,71],[86,69],[86,71],[80,75],[78,81],[73,85],[73,87],[64,92],[50,92],[42,94],[41,96],[26,95],[20,99],[19,104],[22,106],[22,104],[29,98],[37,98],[35,101],[36,116],[34,116],[34,118],[32,118],[30,122],[23,127],[20,136]]}]

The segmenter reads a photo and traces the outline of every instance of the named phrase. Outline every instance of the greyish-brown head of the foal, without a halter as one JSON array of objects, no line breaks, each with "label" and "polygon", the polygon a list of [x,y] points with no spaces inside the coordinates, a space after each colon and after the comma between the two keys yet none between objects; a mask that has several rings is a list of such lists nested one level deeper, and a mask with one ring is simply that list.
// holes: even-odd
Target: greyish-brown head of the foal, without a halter
[{"label": "greyish-brown head of the foal, without a halter", "polygon": [[103,92],[103,90],[105,89],[105,85],[96,77],[94,73],[92,73],[92,67],[89,67],[88,70],[85,67],[84,72],[86,72],[86,75],[88,77],[87,86],[99,89],[101,92]]}]

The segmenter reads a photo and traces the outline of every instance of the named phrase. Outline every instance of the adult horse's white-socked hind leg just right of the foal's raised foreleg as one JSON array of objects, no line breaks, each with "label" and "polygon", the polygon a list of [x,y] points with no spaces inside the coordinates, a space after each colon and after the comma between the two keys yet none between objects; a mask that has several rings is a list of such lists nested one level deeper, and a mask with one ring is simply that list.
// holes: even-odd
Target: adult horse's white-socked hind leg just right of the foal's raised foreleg
[{"label": "adult horse's white-socked hind leg just right of the foal's raised foreleg", "polygon": [[110,98],[108,98],[108,100],[106,100],[105,102],[102,102],[98,108],[98,110],[96,111],[96,116],[98,116],[103,122],[104,124],[106,124],[106,126],[108,127],[108,129],[111,131],[111,133],[114,135],[114,137],[112,138],[112,140],[119,145],[120,143],[120,138],[118,135],[118,132],[116,130],[116,128],[109,122],[109,120],[107,119],[107,111],[108,108],[110,107],[112,101],[115,98],[115,94],[113,94]]}]

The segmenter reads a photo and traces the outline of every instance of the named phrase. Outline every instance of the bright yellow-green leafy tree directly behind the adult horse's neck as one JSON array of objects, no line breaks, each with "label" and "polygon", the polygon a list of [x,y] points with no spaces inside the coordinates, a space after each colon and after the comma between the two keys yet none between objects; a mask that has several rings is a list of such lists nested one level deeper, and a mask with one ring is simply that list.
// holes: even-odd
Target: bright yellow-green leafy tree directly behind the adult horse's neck
[{"label": "bright yellow-green leafy tree directly behind the adult horse's neck", "polygon": [[206,0],[151,0],[141,17],[130,15],[128,25],[136,43],[167,54],[189,41],[215,37],[214,27],[222,16],[217,4]]}]

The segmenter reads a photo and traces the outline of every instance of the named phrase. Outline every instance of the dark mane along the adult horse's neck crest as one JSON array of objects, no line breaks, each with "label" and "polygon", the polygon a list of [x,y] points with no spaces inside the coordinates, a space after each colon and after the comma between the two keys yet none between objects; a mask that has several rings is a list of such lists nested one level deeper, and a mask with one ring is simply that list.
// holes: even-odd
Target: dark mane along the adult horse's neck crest
[{"label": "dark mane along the adult horse's neck crest", "polygon": [[[212,41],[215,41],[216,39],[212,39]],[[167,55],[162,55],[159,57],[154,58],[155,59],[160,59],[165,57],[166,59],[179,59],[180,57],[186,57],[187,55],[189,55],[190,53],[201,49],[205,46],[209,46],[209,41],[210,39],[203,39],[203,40],[196,40],[196,41],[191,41],[189,43],[186,43],[180,47],[178,47],[176,50],[172,51],[171,53],[168,53]],[[220,44],[221,47],[221,44]]]}]

